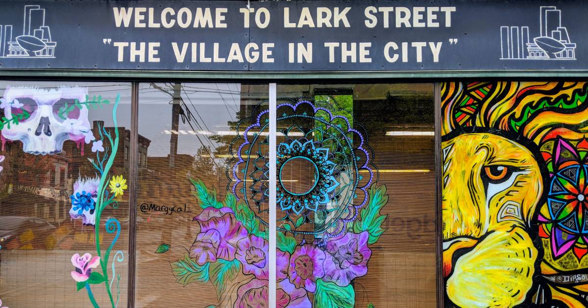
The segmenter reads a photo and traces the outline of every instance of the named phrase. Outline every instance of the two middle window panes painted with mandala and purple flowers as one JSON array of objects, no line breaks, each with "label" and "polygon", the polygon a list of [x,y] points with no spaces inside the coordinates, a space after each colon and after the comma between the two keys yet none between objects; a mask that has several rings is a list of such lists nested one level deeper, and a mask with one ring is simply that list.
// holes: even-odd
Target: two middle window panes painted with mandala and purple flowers
[{"label": "two middle window panes painted with mandala and purple flowers", "polygon": [[[432,85],[278,96],[276,307],[434,305]],[[141,84],[139,306],[268,306],[268,108],[267,85]]]}]

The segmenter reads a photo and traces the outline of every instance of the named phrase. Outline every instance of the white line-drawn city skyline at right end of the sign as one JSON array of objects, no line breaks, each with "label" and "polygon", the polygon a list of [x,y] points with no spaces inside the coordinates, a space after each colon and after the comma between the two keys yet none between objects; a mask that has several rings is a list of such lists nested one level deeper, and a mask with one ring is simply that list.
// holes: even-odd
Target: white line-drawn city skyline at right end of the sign
[{"label": "white line-drawn city skyline at right end of the sign", "polygon": [[500,26],[500,59],[576,59],[576,43],[562,25],[560,9],[540,6],[539,28],[539,36],[530,40],[529,26]]}]

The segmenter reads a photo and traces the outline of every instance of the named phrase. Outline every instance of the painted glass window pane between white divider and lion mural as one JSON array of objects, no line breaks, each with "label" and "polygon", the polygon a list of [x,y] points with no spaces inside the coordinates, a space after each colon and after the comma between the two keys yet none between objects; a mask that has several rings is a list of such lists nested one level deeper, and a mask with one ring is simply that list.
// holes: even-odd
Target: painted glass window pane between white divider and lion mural
[{"label": "painted glass window pane between white divider and lion mural", "polygon": [[278,303],[435,306],[433,85],[277,92]]}]

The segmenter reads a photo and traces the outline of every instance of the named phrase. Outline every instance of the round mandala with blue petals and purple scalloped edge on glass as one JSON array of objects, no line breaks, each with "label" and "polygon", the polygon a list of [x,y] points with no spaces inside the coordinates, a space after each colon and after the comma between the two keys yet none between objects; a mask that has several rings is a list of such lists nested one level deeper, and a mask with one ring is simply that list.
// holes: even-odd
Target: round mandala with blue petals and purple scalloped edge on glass
[{"label": "round mandala with blue petals and purple scalloped edge on glass", "polygon": [[[259,215],[269,206],[269,111],[262,103],[239,122],[238,129],[253,123],[231,143],[235,159],[227,173],[232,192],[242,196],[268,225]],[[348,111],[309,98],[280,99],[276,114],[278,229],[325,237],[341,235],[368,202],[368,189],[377,180],[363,126],[352,116],[341,115]],[[313,185],[305,192],[292,192],[284,185],[282,169],[293,160],[305,160],[314,167],[314,179],[308,179],[314,180]]]}]

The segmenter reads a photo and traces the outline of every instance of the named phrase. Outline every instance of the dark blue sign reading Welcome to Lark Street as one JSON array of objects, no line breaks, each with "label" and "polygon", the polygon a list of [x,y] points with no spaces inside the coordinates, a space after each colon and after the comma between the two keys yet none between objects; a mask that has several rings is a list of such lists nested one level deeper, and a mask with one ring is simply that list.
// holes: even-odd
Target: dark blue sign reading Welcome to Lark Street
[{"label": "dark blue sign reading Welcome to Lark Street", "polygon": [[2,1],[0,69],[586,70],[581,1]]}]

